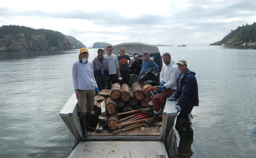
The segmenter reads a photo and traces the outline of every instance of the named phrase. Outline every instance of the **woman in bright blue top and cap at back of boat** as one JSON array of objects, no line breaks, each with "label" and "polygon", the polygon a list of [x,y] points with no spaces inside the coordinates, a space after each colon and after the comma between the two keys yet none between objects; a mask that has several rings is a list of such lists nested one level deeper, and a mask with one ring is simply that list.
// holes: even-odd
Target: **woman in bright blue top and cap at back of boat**
[{"label": "woman in bright blue top and cap at back of boat", "polygon": [[143,76],[147,71],[157,70],[159,68],[155,62],[150,62],[150,56],[147,51],[144,51],[142,54],[142,68],[139,73],[138,82],[140,83],[140,78]]}]

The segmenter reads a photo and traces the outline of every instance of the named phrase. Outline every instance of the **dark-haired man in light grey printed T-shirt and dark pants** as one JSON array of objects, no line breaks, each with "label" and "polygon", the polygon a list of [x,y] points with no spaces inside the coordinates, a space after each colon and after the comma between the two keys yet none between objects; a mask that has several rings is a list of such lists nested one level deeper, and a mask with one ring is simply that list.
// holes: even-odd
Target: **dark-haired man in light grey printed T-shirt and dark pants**
[{"label": "dark-haired man in light grey printed T-shirt and dark pants", "polygon": [[119,83],[118,77],[121,76],[117,56],[115,54],[112,54],[112,50],[113,50],[113,47],[108,46],[107,47],[108,53],[104,55],[104,58],[108,59],[108,64],[109,64],[109,79],[107,80],[107,89],[111,89],[111,81],[113,84]]}]

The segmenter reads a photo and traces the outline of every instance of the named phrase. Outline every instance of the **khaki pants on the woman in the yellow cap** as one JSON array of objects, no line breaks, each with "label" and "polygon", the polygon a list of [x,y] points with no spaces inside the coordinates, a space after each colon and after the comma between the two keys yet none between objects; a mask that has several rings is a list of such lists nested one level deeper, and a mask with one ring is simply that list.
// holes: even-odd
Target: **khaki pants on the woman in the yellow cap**
[{"label": "khaki pants on the woman in the yellow cap", "polygon": [[85,115],[93,110],[95,89],[93,90],[78,90],[79,97],[77,99],[77,114],[78,117]]}]

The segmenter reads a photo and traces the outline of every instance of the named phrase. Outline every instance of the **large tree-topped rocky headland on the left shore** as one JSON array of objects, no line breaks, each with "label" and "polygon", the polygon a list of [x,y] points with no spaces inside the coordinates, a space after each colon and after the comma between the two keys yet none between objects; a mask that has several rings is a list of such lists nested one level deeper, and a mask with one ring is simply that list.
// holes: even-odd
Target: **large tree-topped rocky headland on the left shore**
[{"label": "large tree-topped rocky headland on the left shore", "polygon": [[0,52],[68,50],[85,47],[72,36],[58,31],[18,25],[0,27]]}]

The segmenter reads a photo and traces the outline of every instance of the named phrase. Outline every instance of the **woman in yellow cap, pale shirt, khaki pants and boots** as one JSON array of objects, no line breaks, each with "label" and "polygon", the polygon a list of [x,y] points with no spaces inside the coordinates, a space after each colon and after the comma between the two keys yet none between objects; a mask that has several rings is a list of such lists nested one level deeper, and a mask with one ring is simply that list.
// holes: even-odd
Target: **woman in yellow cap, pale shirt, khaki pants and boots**
[{"label": "woman in yellow cap, pale shirt, khaki pants and boots", "polygon": [[89,52],[87,48],[81,48],[78,61],[72,66],[72,77],[77,99],[77,114],[81,123],[83,138],[88,137],[88,130],[95,128],[89,126],[91,111],[93,110],[95,90],[99,92],[96,84],[92,62],[88,61]]}]

